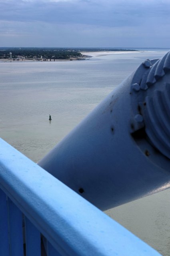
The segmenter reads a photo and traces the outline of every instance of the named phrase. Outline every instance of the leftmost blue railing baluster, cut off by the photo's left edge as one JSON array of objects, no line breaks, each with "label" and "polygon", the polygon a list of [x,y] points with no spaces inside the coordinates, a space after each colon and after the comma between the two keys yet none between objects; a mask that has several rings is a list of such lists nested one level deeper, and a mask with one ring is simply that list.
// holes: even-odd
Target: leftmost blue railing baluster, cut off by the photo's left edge
[{"label": "leftmost blue railing baluster, cut off by the photo's left edge", "polygon": [[0,255],[9,256],[8,211],[6,194],[0,189]]}]

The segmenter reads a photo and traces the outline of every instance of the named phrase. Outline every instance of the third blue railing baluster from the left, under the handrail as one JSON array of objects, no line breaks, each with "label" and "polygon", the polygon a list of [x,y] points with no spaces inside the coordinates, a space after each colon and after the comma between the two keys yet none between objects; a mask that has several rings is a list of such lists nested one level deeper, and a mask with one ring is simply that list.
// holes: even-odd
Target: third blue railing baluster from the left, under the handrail
[{"label": "third blue railing baluster from the left, under the handrail", "polygon": [[41,255],[41,239],[40,232],[25,217],[25,234],[26,234],[26,256],[40,256]]}]

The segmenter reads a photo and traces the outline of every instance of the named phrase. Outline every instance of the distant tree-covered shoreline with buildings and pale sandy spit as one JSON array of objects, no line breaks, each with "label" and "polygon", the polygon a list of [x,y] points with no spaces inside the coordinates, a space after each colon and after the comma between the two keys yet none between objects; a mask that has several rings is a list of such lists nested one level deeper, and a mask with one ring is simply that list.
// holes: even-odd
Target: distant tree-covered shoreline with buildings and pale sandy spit
[{"label": "distant tree-covered shoreline with buildings and pale sandy spit", "polygon": [[[0,62],[13,61],[79,61],[92,56],[136,52],[135,49],[116,48],[38,48],[38,47],[0,47]],[[89,54],[90,53],[90,54]]]}]

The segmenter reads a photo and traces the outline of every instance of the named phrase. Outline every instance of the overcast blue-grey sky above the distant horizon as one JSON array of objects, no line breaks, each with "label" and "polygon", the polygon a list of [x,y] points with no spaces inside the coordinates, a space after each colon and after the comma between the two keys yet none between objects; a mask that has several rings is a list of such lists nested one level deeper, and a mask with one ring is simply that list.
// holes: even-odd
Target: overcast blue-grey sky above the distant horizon
[{"label": "overcast blue-grey sky above the distant horizon", "polygon": [[0,47],[170,48],[170,0],[0,0]]}]

